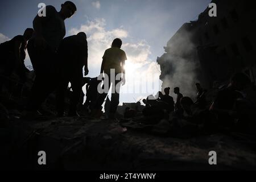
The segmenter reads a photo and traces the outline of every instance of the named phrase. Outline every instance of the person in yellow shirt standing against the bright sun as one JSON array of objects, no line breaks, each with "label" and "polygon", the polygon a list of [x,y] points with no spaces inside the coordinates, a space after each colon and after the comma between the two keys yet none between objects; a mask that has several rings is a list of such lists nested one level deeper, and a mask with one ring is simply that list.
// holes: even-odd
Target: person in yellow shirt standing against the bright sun
[{"label": "person in yellow shirt standing against the bright sun", "polygon": [[[93,113],[97,115],[97,113],[102,109],[102,97],[104,99],[106,98],[110,89],[110,85],[112,84],[112,96],[109,111],[111,119],[115,118],[115,112],[119,104],[119,91],[121,82],[122,85],[125,85],[125,60],[127,60],[127,58],[126,53],[121,49],[121,46],[122,40],[118,38],[114,39],[112,47],[106,49],[104,56],[102,57],[101,73],[104,72],[106,76],[104,78],[105,92],[102,93],[98,98],[95,105],[96,110],[94,110],[96,113]],[[113,71],[113,75],[110,74],[111,69]],[[117,75],[119,76],[118,78]]]}]

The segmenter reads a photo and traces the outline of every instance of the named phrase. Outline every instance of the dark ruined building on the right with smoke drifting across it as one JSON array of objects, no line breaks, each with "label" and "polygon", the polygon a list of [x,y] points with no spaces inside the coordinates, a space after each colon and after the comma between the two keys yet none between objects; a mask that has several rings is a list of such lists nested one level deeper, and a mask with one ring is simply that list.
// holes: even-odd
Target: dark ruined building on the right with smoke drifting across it
[{"label": "dark ruined building on the right with smoke drifting across it", "polygon": [[183,24],[158,57],[166,86],[179,86],[191,96],[199,81],[205,88],[224,84],[235,72],[256,79],[256,11],[250,1],[212,1],[217,17],[209,7],[198,19]]}]

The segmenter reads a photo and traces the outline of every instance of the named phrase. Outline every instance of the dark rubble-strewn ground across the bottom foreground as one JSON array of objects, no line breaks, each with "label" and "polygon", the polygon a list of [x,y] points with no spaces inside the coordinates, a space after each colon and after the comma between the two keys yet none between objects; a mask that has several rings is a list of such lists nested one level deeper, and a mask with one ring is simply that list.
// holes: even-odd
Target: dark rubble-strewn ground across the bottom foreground
[{"label": "dark rubble-strewn ground across the bottom foreground", "polygon": [[[121,125],[89,117],[2,121],[1,168],[205,170],[256,166],[255,142],[246,135],[179,139]],[[39,151],[46,152],[47,165],[38,165]],[[209,165],[209,151],[217,152],[217,166]]]}]

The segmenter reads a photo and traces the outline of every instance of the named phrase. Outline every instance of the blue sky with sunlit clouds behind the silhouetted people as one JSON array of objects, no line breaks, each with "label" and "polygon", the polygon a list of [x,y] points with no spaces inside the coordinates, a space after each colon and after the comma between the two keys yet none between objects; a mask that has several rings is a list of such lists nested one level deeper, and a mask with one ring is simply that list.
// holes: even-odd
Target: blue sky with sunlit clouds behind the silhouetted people
[{"label": "blue sky with sunlit clouds behind the silhouetted people", "polygon": [[[55,6],[60,10],[64,1],[23,0],[0,2],[0,42],[23,34],[32,27],[38,4]],[[127,55],[127,82],[122,87],[121,102],[134,102],[155,94],[161,84],[156,57],[164,53],[168,40],[189,20],[206,9],[210,0],[74,0],[76,14],[65,20],[66,36],[84,31],[88,36],[90,77],[98,76],[101,57],[114,38],[123,40]],[[29,57],[26,64],[31,65]],[[151,77],[147,84],[143,78]],[[134,82],[134,80],[137,80]],[[158,84],[159,83],[159,84]],[[144,88],[147,88],[146,90]],[[127,93],[128,91],[128,93]]]}]

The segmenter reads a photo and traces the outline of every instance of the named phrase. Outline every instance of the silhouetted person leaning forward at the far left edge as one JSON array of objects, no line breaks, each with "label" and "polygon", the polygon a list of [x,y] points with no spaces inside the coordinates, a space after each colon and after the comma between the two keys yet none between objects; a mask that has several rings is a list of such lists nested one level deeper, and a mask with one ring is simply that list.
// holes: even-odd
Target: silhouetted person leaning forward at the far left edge
[{"label": "silhouetted person leaning forward at the far left edge", "polygon": [[[13,39],[0,44],[0,90],[2,90],[2,86],[6,82],[4,77],[10,77],[15,70],[18,73],[20,82],[22,84],[26,82],[26,73],[30,71],[24,64],[25,51],[27,49],[27,41],[31,38],[33,32],[33,28],[27,28],[23,35],[17,35]],[[23,85],[19,85],[17,90],[21,92],[22,87]]]}]

